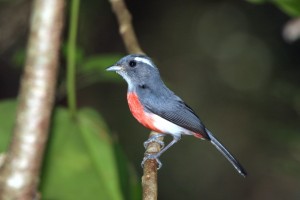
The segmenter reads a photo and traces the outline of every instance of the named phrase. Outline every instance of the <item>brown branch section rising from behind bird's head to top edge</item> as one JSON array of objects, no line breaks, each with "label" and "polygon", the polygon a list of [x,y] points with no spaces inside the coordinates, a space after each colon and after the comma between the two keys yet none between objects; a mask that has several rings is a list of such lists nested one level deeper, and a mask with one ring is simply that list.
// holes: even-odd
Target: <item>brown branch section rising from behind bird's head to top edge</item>
[{"label": "brown branch section rising from behind bird's head to top edge", "polygon": [[142,53],[137,37],[135,35],[131,20],[131,14],[126,7],[126,4],[123,0],[109,0],[112,6],[112,9],[117,16],[119,22],[119,32],[122,36],[123,42],[128,53]]}]

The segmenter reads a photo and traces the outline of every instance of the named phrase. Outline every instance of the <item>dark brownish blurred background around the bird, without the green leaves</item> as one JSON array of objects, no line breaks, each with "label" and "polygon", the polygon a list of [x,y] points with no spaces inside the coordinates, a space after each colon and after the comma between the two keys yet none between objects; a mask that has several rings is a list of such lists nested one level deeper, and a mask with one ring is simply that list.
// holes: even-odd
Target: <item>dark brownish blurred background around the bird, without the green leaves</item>
[{"label": "dark brownish blurred background around the bird, without the green leaves", "polygon": [[[183,137],[161,157],[159,199],[300,199],[300,48],[282,37],[289,17],[238,0],[127,3],[167,85],[249,173],[244,179],[208,142]],[[0,2],[1,99],[17,95],[16,52],[26,46],[30,6]],[[126,54],[107,1],[81,2],[78,46],[91,56]],[[79,90],[78,103],[102,113],[141,176],[149,131],[129,113],[126,89],[99,82]]]}]

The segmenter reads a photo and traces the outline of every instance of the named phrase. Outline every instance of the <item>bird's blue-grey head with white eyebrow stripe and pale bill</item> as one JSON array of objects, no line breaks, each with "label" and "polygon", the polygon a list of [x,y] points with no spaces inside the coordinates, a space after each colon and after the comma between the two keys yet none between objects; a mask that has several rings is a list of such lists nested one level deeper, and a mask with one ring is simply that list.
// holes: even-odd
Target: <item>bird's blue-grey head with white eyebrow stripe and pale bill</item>
[{"label": "bird's blue-grey head with white eyebrow stripe and pale bill", "polygon": [[121,75],[128,84],[128,90],[138,86],[155,86],[155,83],[162,82],[151,58],[141,54],[127,55],[106,70]]}]

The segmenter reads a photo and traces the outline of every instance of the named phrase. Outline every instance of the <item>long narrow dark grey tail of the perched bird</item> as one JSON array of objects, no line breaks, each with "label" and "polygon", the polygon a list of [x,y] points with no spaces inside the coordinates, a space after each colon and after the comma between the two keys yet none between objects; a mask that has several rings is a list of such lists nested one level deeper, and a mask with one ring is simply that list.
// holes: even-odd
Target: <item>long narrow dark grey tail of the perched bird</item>
[{"label": "long narrow dark grey tail of the perched bird", "polygon": [[231,155],[231,153],[213,136],[213,134],[206,129],[208,136],[210,137],[210,142],[225,156],[225,158],[233,165],[233,167],[244,177],[246,177],[247,172],[242,167],[242,165]]}]

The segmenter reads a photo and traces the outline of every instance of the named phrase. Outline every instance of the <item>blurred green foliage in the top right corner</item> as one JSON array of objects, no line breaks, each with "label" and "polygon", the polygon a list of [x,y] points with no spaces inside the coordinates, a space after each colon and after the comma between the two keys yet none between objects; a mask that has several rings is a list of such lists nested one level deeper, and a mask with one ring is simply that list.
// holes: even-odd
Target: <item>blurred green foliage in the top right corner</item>
[{"label": "blurred green foliage in the top right corner", "polygon": [[300,1],[299,0],[248,0],[252,3],[266,3],[270,2],[275,4],[286,14],[297,17],[300,16]]}]

